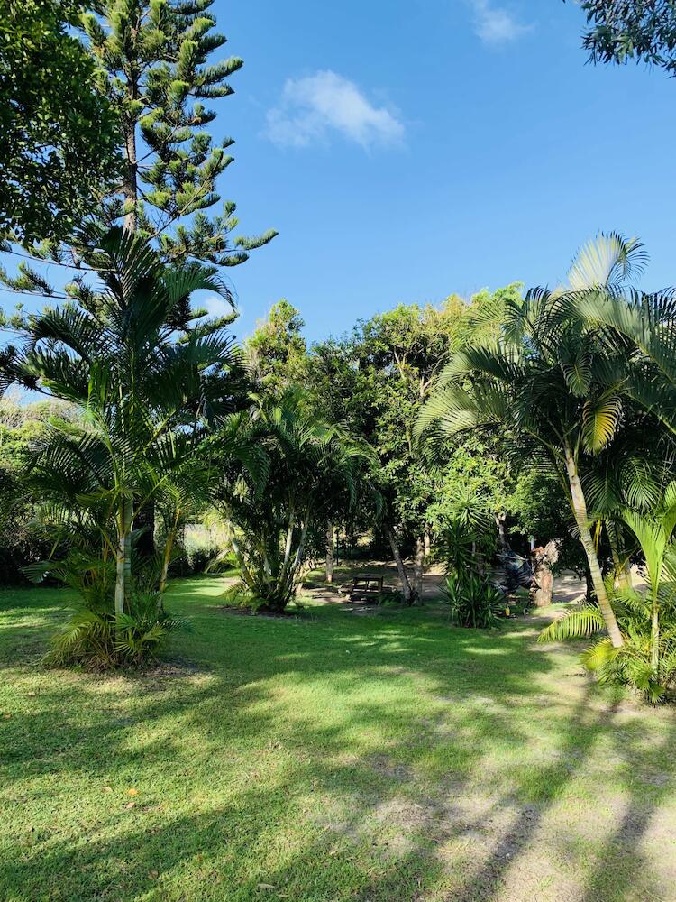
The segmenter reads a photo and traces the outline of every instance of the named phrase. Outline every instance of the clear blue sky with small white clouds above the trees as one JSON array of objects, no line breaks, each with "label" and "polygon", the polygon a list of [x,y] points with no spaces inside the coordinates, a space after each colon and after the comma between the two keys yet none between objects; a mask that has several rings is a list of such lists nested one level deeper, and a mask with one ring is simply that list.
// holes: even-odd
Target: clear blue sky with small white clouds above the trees
[{"label": "clear blue sky with small white clouds above the trees", "polygon": [[[676,283],[676,83],[593,68],[561,0],[216,0],[242,56],[216,138],[242,232],[240,337],[285,297],[309,338],[400,301],[553,283],[598,229]],[[56,273],[54,273],[56,276]],[[5,298],[5,302],[6,302]],[[9,304],[7,304],[9,306]]]}]

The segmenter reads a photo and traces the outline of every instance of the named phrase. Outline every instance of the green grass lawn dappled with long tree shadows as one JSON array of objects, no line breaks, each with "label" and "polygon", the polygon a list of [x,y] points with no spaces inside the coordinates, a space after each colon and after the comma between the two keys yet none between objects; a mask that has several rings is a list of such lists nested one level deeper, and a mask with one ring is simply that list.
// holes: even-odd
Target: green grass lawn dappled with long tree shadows
[{"label": "green grass lawn dappled with long tree shadows", "polygon": [[533,622],[178,584],[145,676],[39,666],[60,590],[0,592],[0,899],[676,900],[676,714]]}]

